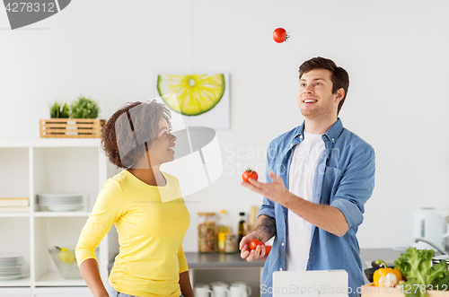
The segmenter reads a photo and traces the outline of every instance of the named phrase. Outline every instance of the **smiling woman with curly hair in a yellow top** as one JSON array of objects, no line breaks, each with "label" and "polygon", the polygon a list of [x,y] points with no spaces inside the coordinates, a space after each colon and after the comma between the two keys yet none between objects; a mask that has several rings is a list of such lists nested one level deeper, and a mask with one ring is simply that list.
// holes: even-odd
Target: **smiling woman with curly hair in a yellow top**
[{"label": "smiling woman with curly hair in a yellow top", "polygon": [[[160,170],[174,160],[171,128],[170,111],[155,100],[128,103],[104,127],[101,149],[124,170],[103,185],[75,249],[94,296],[193,297],[182,249],[189,212],[178,179]],[[120,249],[109,295],[94,250],[112,224]]]}]

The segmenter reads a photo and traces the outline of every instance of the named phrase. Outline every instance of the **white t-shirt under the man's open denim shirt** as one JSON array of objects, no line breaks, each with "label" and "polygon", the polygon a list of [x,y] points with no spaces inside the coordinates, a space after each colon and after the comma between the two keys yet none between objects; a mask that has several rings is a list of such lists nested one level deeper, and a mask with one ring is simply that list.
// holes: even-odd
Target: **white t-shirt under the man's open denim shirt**
[{"label": "white t-shirt under the man's open denim shirt", "polygon": [[[313,176],[324,142],[321,135],[304,131],[304,140],[296,144],[290,164],[288,190],[304,200],[312,201]],[[305,271],[309,259],[311,223],[288,210],[286,234],[286,270]]]}]

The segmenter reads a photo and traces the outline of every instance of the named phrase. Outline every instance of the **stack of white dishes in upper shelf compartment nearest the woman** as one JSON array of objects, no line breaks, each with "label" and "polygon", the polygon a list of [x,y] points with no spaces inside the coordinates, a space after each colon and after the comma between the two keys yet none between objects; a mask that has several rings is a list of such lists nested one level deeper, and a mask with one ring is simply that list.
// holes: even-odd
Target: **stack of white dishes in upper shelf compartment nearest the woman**
[{"label": "stack of white dishes in upper shelf compartment nearest the woman", "polygon": [[40,194],[38,205],[52,212],[74,211],[83,205],[83,195],[78,194]]}]

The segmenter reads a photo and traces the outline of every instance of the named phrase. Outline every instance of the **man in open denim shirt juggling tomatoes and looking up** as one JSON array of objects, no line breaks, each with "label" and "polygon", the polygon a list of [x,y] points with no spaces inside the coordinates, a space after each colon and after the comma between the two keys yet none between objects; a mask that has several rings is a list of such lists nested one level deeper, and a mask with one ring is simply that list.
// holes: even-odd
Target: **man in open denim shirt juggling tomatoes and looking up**
[{"label": "man in open denim shirt juggling tomatoes and looking up", "polygon": [[[276,235],[262,274],[262,296],[275,271],[345,269],[349,296],[365,284],[357,241],[365,202],[374,188],[374,149],[338,118],[348,73],[314,57],[299,67],[298,105],[304,123],[269,144],[267,183],[242,185],[264,196],[254,231],[240,242],[241,257],[265,256],[249,242]],[[358,289],[360,290],[360,289]]]}]

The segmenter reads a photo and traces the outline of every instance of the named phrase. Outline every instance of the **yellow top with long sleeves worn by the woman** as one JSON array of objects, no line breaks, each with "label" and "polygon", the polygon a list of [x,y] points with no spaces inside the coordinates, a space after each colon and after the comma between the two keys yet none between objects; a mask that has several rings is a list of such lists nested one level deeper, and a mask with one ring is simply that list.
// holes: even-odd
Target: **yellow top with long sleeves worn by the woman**
[{"label": "yellow top with long sleeves worn by the woman", "polygon": [[[163,176],[167,181],[164,187],[149,186],[128,170],[108,179],[78,240],[75,255],[81,265],[95,258],[94,250],[115,223],[120,249],[109,283],[119,293],[181,294],[179,276],[189,270],[182,240],[190,216],[178,179],[164,172]],[[163,203],[161,197],[174,199]]]}]

